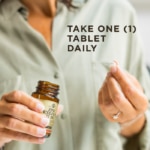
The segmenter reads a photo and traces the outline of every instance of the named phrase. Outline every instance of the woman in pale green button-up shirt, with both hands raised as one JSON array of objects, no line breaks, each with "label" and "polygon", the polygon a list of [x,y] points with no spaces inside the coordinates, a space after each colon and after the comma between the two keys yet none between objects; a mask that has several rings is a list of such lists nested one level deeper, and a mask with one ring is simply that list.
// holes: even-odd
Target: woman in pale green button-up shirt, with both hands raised
[{"label": "woman in pale green button-up shirt, with both hands raised", "polygon": [[[87,28],[81,30],[82,25],[97,29],[116,24],[120,31],[104,31],[105,41],[95,42],[93,52],[91,42],[68,40],[68,35],[92,36]],[[2,1],[0,147],[147,150],[150,80],[138,36],[125,34],[121,29],[126,25],[136,26],[134,10],[126,1]],[[93,34],[101,34],[94,29]],[[81,49],[69,51],[68,45]],[[118,63],[108,69],[113,60]],[[30,96],[39,80],[60,85],[65,107],[46,140],[44,107]]]}]

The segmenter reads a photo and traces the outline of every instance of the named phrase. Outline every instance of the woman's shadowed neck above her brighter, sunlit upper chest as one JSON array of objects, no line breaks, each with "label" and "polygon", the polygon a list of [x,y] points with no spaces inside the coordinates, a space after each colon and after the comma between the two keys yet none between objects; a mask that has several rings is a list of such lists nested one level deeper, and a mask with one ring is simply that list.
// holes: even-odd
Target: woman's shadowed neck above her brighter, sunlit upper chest
[{"label": "woman's shadowed neck above her brighter, sunlit upper chest", "polygon": [[21,0],[30,15],[53,18],[56,13],[56,0]]}]

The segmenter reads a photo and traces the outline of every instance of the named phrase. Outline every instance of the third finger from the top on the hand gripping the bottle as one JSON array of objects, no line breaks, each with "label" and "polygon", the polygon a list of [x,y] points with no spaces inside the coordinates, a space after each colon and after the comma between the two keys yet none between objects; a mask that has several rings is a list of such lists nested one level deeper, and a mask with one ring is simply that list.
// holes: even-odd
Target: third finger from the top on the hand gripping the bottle
[{"label": "third finger from the top on the hand gripping the bottle", "polygon": [[9,116],[1,116],[0,128],[9,129],[16,132],[25,133],[35,137],[44,137],[46,129],[23,122]]}]

